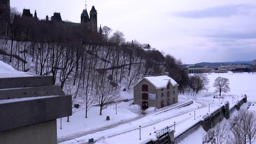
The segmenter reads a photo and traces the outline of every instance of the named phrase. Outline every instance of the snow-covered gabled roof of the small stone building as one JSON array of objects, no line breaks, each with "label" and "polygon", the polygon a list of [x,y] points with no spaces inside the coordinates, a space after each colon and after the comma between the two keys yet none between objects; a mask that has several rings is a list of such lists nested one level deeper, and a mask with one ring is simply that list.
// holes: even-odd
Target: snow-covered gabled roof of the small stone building
[{"label": "snow-covered gabled roof of the small stone building", "polygon": [[170,83],[172,86],[179,86],[179,84],[169,76],[146,76],[146,77],[143,77],[134,86],[136,86],[138,83],[140,83],[144,79],[150,82],[154,87],[156,87],[156,89],[166,88],[168,83]]}]

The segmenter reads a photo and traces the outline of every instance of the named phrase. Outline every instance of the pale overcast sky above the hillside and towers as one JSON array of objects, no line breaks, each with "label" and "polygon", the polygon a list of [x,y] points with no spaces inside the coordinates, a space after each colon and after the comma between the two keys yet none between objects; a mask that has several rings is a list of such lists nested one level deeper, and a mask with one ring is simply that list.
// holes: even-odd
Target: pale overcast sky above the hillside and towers
[{"label": "pale overcast sky above the hillside and towers", "polygon": [[80,23],[92,6],[100,24],[181,59],[185,64],[256,59],[255,0],[10,0],[45,19]]}]

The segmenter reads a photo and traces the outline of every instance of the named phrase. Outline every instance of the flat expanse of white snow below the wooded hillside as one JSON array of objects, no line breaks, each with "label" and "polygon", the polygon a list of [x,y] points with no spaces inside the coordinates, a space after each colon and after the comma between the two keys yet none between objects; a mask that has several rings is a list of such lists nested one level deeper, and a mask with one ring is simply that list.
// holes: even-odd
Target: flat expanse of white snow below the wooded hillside
[{"label": "flat expanse of white snow below the wooded hillside", "polygon": [[[216,96],[218,94],[213,93],[215,88],[212,87],[214,79],[218,76],[228,78],[231,89],[228,94],[223,95],[224,99],[220,100],[213,98],[214,95]],[[210,87],[207,92],[201,92],[196,97],[179,95],[178,104],[160,108],[156,111],[154,111],[154,108],[148,108],[148,110],[142,111],[138,105],[132,105],[133,101],[130,100],[128,102],[117,103],[117,114],[116,104],[104,109],[102,116],[99,115],[100,110],[98,107],[92,107],[89,110],[88,118],[85,118],[84,110],[75,112],[70,116],[70,122],[66,122],[66,118],[62,118],[62,129],[60,129],[60,119],[58,119],[58,142],[61,142],[61,144],[83,144],[88,143],[89,139],[94,138],[94,142],[97,141],[96,144],[143,144],[150,139],[156,139],[154,134],[156,130],[160,130],[166,126],[170,126],[173,129],[174,122],[176,122],[174,136],[178,136],[189,126],[202,120],[204,114],[211,113],[221,107],[222,104],[219,103],[222,101],[229,101],[230,108],[232,108],[234,106],[232,100],[233,102],[237,99],[240,100],[242,99],[241,94],[246,94],[248,96],[248,102],[256,102],[256,74],[233,74],[232,72],[223,74],[212,73],[208,75],[208,78],[210,79]],[[132,93],[126,93],[126,97],[132,98]],[[234,98],[232,99],[232,97]],[[168,110],[173,106],[188,102],[191,99],[194,100],[194,104],[190,106]],[[210,104],[210,112],[208,104]],[[247,106],[247,104],[245,105]],[[82,107],[79,109],[82,109]],[[194,120],[194,111],[196,111],[196,120]],[[106,120],[106,116],[110,116],[109,121]],[[111,126],[113,124],[114,126]],[[141,134],[139,126],[142,127]],[[203,130],[199,129],[194,134],[191,134],[189,138],[184,139],[180,144],[191,144],[191,139],[195,144],[202,143],[202,133]],[[77,138],[64,141],[65,138],[71,138],[73,136]]]}]

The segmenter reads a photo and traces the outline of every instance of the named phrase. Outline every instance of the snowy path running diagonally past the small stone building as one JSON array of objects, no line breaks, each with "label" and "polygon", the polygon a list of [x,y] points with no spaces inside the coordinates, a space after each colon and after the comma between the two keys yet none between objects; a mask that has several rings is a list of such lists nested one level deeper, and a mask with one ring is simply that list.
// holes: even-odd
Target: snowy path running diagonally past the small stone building
[{"label": "snowy path running diagonally past the small stone building", "polygon": [[[186,106],[186,107],[182,107],[182,108],[173,108],[173,107],[170,108],[169,107],[169,108],[164,108],[164,110],[161,109],[161,111],[158,111],[158,112],[157,111],[149,111],[149,113],[146,114],[146,116],[140,113],[140,115],[134,119],[125,120],[123,122],[113,124],[110,126],[104,126],[100,129],[91,130],[90,132],[74,133],[70,136],[66,136],[64,138],[59,138],[58,143],[67,142],[68,140],[71,140],[71,141],[74,140],[76,142],[84,144],[84,143],[88,143],[87,141],[85,141],[85,139],[88,140],[91,137],[94,137],[94,142],[96,142],[98,139],[100,139],[102,137],[111,138],[113,136],[124,134],[126,132],[131,132],[133,130],[137,130],[138,122],[140,122],[140,123],[143,122],[143,127],[148,127],[148,126],[153,127],[154,124],[157,124],[159,122],[169,120],[171,118],[180,116],[182,114],[189,113],[194,110],[198,110],[198,106],[199,106],[199,108],[205,108],[206,106],[208,106],[208,104],[206,104],[205,102],[202,102],[200,100],[194,100],[194,101],[196,103],[191,104],[190,106]],[[190,108],[188,108],[188,107],[190,107]],[[170,109],[170,110],[168,110],[168,109]],[[158,115],[158,116],[155,116],[155,115]],[[191,115],[191,116],[193,117],[194,115]],[[173,123],[170,123],[169,125],[173,126]],[[98,138],[95,138],[95,135],[98,136]]]}]

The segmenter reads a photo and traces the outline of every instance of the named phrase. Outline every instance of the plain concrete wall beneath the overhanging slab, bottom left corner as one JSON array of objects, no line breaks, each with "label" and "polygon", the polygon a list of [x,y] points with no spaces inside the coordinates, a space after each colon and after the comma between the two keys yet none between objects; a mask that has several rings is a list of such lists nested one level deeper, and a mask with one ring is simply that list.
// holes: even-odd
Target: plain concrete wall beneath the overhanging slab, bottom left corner
[{"label": "plain concrete wall beneath the overhanging slab, bottom left corner", "polygon": [[56,144],[56,120],[0,132],[0,144]]}]

